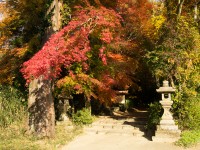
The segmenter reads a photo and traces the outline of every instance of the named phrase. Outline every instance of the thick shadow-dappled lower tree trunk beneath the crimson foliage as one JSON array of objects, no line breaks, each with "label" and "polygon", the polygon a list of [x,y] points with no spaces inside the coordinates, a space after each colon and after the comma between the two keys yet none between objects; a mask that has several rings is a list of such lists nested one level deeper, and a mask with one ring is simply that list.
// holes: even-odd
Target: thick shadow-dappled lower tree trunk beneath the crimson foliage
[{"label": "thick shadow-dappled lower tree trunk beneath the crimson foliage", "polygon": [[51,81],[42,77],[29,85],[28,132],[39,137],[53,137],[55,134],[55,110]]}]

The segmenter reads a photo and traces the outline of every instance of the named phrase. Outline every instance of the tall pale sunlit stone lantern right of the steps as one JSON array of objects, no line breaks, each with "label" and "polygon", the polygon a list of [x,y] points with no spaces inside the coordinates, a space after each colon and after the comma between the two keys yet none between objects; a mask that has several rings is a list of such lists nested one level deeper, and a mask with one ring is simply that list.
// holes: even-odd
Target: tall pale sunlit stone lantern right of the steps
[{"label": "tall pale sunlit stone lantern right of the steps", "polygon": [[156,138],[153,140],[162,139],[162,141],[176,141],[180,137],[180,130],[173,120],[173,116],[170,112],[173,101],[171,100],[171,93],[175,92],[175,89],[169,86],[168,81],[163,81],[163,86],[156,89],[158,93],[161,93],[162,100],[160,101],[164,113],[161,118],[160,124],[157,126]]}]

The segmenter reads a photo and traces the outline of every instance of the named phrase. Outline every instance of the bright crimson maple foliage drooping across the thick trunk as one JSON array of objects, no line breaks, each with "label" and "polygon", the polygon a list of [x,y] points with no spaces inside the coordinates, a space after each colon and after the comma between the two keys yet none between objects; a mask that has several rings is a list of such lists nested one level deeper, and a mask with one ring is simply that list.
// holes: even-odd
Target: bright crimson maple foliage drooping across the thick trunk
[{"label": "bright crimson maple foliage drooping across the thick trunk", "polygon": [[87,53],[91,50],[89,36],[95,30],[100,31],[97,36],[100,36],[104,46],[100,49],[99,56],[106,64],[104,51],[106,45],[115,40],[113,29],[120,27],[120,16],[105,7],[77,8],[73,20],[53,34],[42,49],[23,64],[21,72],[27,83],[41,75],[45,79],[57,78],[62,66],[70,70],[74,63],[80,63],[83,69],[87,70]]}]

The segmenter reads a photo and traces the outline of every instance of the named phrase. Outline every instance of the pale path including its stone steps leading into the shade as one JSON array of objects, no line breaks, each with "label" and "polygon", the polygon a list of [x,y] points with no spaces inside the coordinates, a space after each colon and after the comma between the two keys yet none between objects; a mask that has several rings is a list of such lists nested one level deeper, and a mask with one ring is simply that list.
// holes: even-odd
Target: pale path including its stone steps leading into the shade
[{"label": "pale path including its stone steps leading into the shade", "polygon": [[146,116],[146,111],[133,110],[100,117],[61,150],[200,150],[200,145],[185,149],[169,142],[150,141],[143,131]]}]

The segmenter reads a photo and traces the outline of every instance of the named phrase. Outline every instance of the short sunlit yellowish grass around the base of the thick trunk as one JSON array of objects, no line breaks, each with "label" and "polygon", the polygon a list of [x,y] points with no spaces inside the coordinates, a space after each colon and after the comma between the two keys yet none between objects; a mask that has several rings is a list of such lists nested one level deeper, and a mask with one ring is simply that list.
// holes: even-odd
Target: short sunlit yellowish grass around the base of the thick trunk
[{"label": "short sunlit yellowish grass around the base of the thick trunk", "polygon": [[57,150],[82,133],[82,128],[71,122],[58,122],[53,139],[39,139],[25,134],[25,125],[12,124],[0,129],[1,150]]}]

